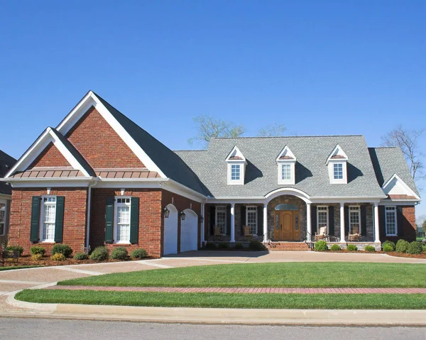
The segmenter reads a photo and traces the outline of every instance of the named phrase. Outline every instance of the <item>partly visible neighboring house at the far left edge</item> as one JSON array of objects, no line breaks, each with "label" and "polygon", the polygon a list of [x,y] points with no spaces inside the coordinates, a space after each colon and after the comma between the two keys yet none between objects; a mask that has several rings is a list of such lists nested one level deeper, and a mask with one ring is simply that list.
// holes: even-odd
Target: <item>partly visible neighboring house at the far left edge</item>
[{"label": "partly visible neighboring house at the far left edge", "polygon": [[[16,159],[0,150],[0,177],[11,170]],[[11,207],[12,187],[6,182],[0,182],[0,249],[7,244],[9,231],[9,212]]]}]

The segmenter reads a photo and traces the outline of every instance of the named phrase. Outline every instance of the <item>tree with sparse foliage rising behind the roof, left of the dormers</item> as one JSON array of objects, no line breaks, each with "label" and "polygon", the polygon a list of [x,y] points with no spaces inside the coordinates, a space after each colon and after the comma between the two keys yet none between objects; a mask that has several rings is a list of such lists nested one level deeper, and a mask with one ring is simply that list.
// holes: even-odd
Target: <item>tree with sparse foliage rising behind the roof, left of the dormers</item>
[{"label": "tree with sparse foliage rising behind the roof, left of the dormers", "polygon": [[204,147],[207,147],[211,138],[235,138],[246,132],[242,125],[236,125],[230,121],[223,121],[221,119],[214,119],[212,116],[197,116],[193,120],[197,128],[197,134],[188,139],[189,144],[194,143],[194,141],[202,141],[204,142]]}]

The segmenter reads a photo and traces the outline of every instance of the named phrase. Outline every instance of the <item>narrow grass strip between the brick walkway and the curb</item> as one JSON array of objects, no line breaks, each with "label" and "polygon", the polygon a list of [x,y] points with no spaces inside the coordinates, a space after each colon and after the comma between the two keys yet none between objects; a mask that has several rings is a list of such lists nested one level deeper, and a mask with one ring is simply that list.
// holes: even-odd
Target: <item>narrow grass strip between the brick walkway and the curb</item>
[{"label": "narrow grass strip between the brick walkway and the curb", "polygon": [[146,307],[286,309],[426,309],[426,294],[226,294],[23,290],[17,300]]}]

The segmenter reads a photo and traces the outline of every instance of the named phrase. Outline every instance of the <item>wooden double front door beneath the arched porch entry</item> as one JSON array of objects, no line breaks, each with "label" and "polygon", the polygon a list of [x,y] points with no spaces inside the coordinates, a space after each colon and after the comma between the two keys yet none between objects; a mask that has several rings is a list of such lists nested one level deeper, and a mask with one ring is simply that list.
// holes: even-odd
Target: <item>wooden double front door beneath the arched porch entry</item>
[{"label": "wooden double front door beneath the arched porch entry", "polygon": [[299,212],[284,210],[275,212],[275,241],[300,241]]}]

